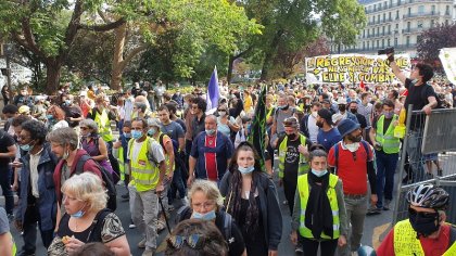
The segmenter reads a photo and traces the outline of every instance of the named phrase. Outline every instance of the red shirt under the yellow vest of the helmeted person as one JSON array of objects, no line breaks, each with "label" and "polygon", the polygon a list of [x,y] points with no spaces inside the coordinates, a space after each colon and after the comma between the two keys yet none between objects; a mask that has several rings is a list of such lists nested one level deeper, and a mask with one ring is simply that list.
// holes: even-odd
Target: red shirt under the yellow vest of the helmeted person
[{"label": "red shirt under the yellow vest of the helmeted person", "polygon": [[[441,233],[438,239],[420,238],[422,251],[426,256],[441,256],[449,245],[449,226],[442,225]],[[391,256],[394,254],[394,229],[390,230],[387,238],[377,248],[377,255],[379,256]]]}]

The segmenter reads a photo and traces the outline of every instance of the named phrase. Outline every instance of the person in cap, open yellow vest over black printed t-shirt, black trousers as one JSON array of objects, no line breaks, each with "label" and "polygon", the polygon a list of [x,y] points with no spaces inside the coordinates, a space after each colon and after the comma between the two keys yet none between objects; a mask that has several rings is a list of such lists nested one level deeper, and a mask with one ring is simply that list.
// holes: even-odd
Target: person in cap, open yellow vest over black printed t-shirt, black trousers
[{"label": "person in cap, open yellow vest over black printed t-shirt, black trousers", "polygon": [[277,143],[279,154],[279,185],[283,185],[286,200],[293,212],[294,192],[297,176],[308,171],[308,149],[311,140],[300,133],[300,124],[295,117],[283,120],[286,136]]}]

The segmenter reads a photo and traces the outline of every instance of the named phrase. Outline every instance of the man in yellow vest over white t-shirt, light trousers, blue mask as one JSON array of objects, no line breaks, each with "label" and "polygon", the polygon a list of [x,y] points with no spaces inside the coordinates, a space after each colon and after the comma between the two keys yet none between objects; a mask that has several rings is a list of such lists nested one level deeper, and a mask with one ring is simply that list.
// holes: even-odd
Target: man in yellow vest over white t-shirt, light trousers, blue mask
[{"label": "man in yellow vest over white t-shirt, light trousers, blue mask", "polygon": [[142,256],[152,256],[156,248],[156,220],[159,196],[163,192],[166,162],[157,141],[148,137],[148,121],[135,118],[131,121],[131,140],[128,142],[131,181],[130,208],[132,220],[145,238],[138,247],[145,248]]}]

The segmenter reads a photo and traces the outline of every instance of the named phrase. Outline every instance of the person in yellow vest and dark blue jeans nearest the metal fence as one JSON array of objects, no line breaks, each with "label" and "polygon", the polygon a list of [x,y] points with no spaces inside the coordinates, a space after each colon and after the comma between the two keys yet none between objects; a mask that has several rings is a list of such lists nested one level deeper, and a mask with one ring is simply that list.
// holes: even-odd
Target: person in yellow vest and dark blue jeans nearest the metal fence
[{"label": "person in yellow vest and dark blue jeans nearest the metal fence", "polygon": [[[372,120],[369,131],[370,141],[376,149],[377,164],[377,205],[368,214],[379,214],[381,209],[390,209],[393,200],[394,172],[397,166],[401,141],[394,136],[394,127],[398,116],[394,114],[394,102],[384,100],[383,113],[378,119]],[[383,201],[384,196],[384,201]]]}]

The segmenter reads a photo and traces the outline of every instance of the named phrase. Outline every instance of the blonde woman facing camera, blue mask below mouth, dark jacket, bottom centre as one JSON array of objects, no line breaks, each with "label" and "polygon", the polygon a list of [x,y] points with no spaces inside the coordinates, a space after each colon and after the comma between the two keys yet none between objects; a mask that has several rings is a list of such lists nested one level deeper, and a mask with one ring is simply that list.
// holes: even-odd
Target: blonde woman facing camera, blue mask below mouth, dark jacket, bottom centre
[{"label": "blonde woman facing camera, blue mask below mouth, dark jacket, bottom centre", "polygon": [[195,180],[189,192],[189,206],[182,206],[176,215],[176,222],[186,219],[202,219],[214,222],[228,244],[228,255],[246,255],[241,231],[231,215],[221,210],[224,200],[215,182]]}]

